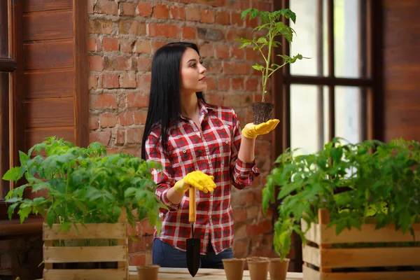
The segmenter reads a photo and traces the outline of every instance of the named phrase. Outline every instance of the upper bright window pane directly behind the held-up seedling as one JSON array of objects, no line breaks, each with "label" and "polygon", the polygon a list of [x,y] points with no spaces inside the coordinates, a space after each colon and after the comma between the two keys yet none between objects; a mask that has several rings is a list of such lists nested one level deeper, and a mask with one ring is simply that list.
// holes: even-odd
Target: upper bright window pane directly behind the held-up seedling
[{"label": "upper bright window pane directly behind the held-up seedling", "polygon": [[[290,10],[296,13],[296,24],[290,21],[290,27],[296,31],[290,45],[290,56],[300,53],[304,57],[310,57],[310,59],[302,59],[290,64],[290,74],[292,75],[328,75],[326,0],[321,1],[323,18],[323,26],[320,27],[322,29],[321,38],[318,38],[320,29],[318,28],[318,2],[319,0],[290,0]],[[320,52],[318,53],[318,51]]]}]

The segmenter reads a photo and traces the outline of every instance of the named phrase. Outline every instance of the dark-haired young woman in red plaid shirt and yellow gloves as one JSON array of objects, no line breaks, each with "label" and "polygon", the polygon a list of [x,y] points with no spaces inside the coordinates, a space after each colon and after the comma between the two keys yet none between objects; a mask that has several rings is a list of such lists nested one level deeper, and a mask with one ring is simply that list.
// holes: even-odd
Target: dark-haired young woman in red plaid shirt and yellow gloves
[{"label": "dark-haired young woman in red plaid shirt and yellow gloves", "polygon": [[223,268],[222,259],[232,258],[230,184],[251,185],[259,175],[255,137],[279,123],[249,123],[241,130],[235,111],[204,102],[206,88],[197,45],[169,43],[155,52],[141,157],[162,164],[162,170],[153,170],[156,195],[167,207],[153,241],[153,263],[162,267],[186,267],[190,187],[196,190],[201,267]]}]

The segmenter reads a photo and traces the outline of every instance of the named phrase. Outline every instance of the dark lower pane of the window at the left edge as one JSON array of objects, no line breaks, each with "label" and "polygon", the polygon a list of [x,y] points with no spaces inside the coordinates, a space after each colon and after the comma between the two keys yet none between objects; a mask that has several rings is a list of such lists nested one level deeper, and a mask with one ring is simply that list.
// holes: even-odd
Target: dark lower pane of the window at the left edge
[{"label": "dark lower pane of the window at the left edge", "polygon": [[[8,126],[9,73],[0,72],[0,176],[9,169],[9,126]],[[0,177],[0,178],[1,178]],[[9,182],[0,180],[0,199],[9,190]]]}]

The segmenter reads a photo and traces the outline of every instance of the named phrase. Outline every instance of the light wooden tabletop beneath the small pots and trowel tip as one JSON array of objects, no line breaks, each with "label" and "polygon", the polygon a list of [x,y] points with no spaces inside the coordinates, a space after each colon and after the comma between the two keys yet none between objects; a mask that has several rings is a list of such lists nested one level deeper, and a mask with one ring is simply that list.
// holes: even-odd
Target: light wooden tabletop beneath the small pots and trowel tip
[{"label": "light wooden tabletop beneath the small pots and trowel tip", "polygon": [[[160,267],[159,280],[184,280],[184,279],[200,279],[200,280],[226,280],[225,270],[223,269],[208,269],[200,268],[197,274],[190,275],[186,268],[169,268]],[[250,280],[249,271],[244,270],[243,280]],[[269,279],[269,274],[268,278]],[[288,272],[287,280],[302,280],[303,275],[300,272]],[[130,280],[137,280],[137,269],[135,266],[130,266]]]}]

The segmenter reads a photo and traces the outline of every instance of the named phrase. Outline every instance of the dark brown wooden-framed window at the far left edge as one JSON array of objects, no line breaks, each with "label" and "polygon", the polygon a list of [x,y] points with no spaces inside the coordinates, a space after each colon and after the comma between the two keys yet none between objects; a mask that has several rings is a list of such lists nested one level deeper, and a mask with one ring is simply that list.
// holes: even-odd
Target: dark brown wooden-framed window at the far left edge
[{"label": "dark brown wooden-framed window at the far left edge", "polygon": [[[0,176],[23,151],[22,1],[0,1]],[[19,118],[20,116],[20,118]],[[13,183],[0,180],[0,202]],[[6,204],[0,203],[0,219]]]}]

